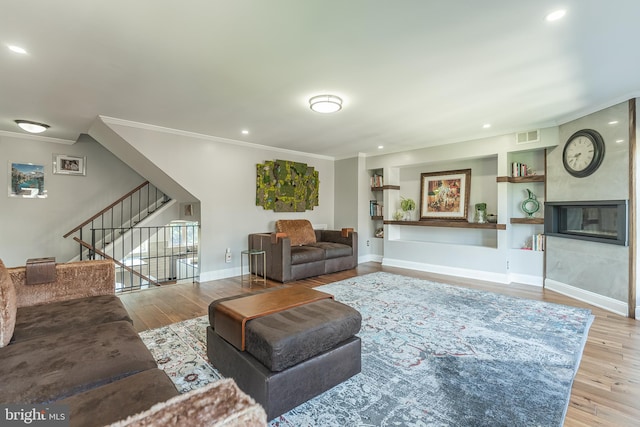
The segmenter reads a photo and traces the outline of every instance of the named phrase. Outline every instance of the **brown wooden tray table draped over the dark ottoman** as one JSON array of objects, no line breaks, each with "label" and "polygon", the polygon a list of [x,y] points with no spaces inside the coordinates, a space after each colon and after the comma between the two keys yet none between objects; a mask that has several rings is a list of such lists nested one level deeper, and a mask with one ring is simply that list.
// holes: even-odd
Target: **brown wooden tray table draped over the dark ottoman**
[{"label": "brown wooden tray table draped over the dark ottoman", "polygon": [[244,327],[247,321],[327,298],[333,298],[333,295],[291,286],[223,301],[215,308],[216,332],[238,350],[244,351]]}]

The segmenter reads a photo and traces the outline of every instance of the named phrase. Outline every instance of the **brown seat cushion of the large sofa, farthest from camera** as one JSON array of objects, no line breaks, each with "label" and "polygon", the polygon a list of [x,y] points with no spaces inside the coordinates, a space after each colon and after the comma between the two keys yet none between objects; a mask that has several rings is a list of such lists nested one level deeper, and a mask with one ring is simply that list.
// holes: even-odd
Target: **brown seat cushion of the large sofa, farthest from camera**
[{"label": "brown seat cushion of the large sofa, farthest from camera", "polygon": [[100,323],[119,320],[133,323],[120,298],[115,295],[21,307],[16,316],[12,342],[17,343],[64,331],[69,333]]}]

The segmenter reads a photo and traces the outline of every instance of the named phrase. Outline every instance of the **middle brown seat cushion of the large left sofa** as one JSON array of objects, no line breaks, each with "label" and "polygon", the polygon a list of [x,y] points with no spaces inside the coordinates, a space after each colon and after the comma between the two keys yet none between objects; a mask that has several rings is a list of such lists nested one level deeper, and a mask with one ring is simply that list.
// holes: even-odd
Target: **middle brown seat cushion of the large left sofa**
[{"label": "middle brown seat cushion of the large left sofa", "polygon": [[48,403],[157,367],[126,321],[10,344],[0,359],[2,403]]}]

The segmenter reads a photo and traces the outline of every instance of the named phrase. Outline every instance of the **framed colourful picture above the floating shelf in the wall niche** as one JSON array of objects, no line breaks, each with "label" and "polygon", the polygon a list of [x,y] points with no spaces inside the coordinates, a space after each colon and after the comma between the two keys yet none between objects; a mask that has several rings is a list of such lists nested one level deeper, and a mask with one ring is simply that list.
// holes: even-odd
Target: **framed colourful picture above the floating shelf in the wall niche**
[{"label": "framed colourful picture above the floating shelf in the wall niche", "polygon": [[420,175],[420,220],[467,220],[471,169]]}]

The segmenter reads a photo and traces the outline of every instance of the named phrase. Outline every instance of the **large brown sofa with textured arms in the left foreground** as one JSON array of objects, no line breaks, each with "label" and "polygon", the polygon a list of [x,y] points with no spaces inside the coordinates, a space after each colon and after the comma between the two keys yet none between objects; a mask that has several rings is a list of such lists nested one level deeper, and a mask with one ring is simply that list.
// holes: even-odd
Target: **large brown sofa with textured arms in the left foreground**
[{"label": "large brown sofa with textured arms in the left foreground", "polygon": [[[231,380],[179,395],[115,296],[111,261],[55,265],[27,284],[0,260],[0,403],[65,404],[72,426],[265,425]],[[186,423],[186,424],[185,424]]]}]

